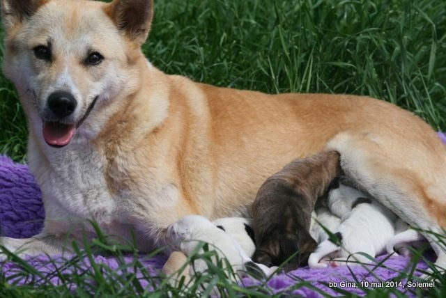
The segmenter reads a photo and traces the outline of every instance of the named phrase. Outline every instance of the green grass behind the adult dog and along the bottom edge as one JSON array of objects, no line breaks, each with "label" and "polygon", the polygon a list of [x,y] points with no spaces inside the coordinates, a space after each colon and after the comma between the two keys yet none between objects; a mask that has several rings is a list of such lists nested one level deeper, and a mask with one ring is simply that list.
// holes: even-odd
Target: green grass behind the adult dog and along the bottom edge
[{"label": "green grass behind the adult dog and along the bottom edge", "polygon": [[[151,36],[143,50],[157,68],[169,74],[267,93],[371,95],[417,113],[435,130],[446,130],[446,1],[157,0]],[[26,120],[17,93],[2,75],[0,154],[16,161],[26,159]],[[109,249],[108,253],[121,258],[120,251]],[[78,255],[89,258],[91,251],[78,251]],[[69,265],[78,266],[77,258],[69,260]],[[17,274],[26,276],[33,271],[26,262],[16,261],[22,264]],[[59,286],[47,283],[45,276],[40,285],[10,285],[10,279],[0,275],[0,296],[197,295],[144,275],[144,266],[137,260],[121,264],[121,269],[128,270],[125,280],[114,270],[95,266],[82,274],[55,272],[66,281]],[[149,295],[138,285],[134,268],[149,283],[163,286]],[[199,286],[199,279],[207,279],[236,296],[268,294],[262,287],[243,289],[228,283],[222,274],[213,267],[193,280],[192,288]],[[401,272],[401,276],[411,278],[410,272]],[[418,289],[417,296],[445,297],[440,286],[444,277],[436,277],[439,286]],[[71,283],[77,285],[75,291],[68,287]],[[295,287],[302,285],[305,283],[299,281]],[[394,289],[368,291],[370,297],[387,297]]]}]

